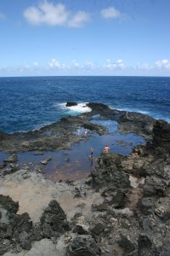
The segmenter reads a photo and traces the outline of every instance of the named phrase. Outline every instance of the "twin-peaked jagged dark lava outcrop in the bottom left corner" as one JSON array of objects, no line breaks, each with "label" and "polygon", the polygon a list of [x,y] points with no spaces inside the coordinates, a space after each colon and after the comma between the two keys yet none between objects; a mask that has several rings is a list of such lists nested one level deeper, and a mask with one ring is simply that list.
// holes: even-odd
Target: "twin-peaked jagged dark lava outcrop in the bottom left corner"
[{"label": "twin-peaked jagged dark lava outcrop in the bottom left corner", "polygon": [[39,224],[32,224],[29,214],[17,214],[18,210],[18,202],[9,196],[0,195],[0,255],[10,250],[15,253],[22,249],[30,250],[32,241],[43,238],[54,241],[70,230],[65,212],[57,201],[50,201]]}]

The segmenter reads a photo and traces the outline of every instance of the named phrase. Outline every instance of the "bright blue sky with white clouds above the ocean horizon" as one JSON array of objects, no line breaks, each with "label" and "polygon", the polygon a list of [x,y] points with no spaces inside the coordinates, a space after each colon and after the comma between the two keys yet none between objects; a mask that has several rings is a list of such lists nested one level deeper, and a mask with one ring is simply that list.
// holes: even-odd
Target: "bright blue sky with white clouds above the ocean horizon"
[{"label": "bright blue sky with white clouds above the ocean horizon", "polygon": [[0,0],[0,77],[170,76],[169,0]]}]

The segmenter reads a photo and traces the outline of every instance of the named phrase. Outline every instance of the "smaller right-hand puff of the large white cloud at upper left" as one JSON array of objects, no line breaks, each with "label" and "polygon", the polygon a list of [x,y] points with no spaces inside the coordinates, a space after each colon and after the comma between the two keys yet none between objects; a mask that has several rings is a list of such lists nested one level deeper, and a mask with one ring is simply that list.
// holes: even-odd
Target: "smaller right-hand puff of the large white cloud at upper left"
[{"label": "smaller right-hand puff of the large white cloud at upper left", "polygon": [[83,11],[79,11],[76,15],[74,15],[71,20],[69,20],[68,24],[69,26],[73,27],[80,27],[84,24],[84,22],[87,22],[90,20],[90,15]]}]

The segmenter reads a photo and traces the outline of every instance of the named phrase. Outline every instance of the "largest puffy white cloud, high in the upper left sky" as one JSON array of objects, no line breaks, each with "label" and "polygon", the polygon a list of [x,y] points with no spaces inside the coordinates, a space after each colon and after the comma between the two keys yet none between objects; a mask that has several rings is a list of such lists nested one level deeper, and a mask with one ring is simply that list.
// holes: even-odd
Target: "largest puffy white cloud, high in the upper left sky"
[{"label": "largest puffy white cloud, high in the upper left sky", "polygon": [[38,7],[29,7],[24,11],[26,20],[31,25],[47,24],[49,26],[73,26],[80,27],[90,19],[86,12],[78,11],[72,14],[65,9],[62,3],[49,3],[45,1]]}]

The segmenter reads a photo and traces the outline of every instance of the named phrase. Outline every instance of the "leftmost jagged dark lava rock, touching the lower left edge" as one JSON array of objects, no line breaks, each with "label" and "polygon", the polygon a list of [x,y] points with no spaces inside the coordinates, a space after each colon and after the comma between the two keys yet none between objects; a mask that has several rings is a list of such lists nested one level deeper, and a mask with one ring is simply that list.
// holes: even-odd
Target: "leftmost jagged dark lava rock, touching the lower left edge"
[{"label": "leftmost jagged dark lava rock, touching the lower left edge", "polygon": [[0,255],[12,247],[30,250],[33,226],[28,213],[16,214],[19,203],[5,195],[0,195],[0,208]]}]

